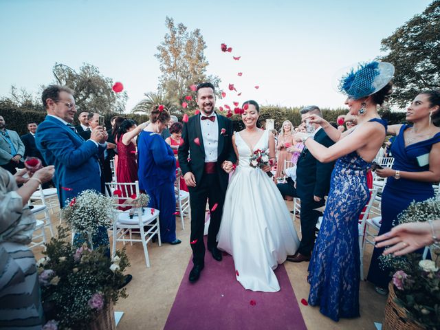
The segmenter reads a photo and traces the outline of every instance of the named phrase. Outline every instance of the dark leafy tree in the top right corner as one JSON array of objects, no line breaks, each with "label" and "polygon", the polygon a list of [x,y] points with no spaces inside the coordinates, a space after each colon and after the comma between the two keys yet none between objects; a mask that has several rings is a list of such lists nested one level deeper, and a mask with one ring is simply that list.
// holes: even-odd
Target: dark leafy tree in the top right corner
[{"label": "dark leafy tree in the top right corner", "polygon": [[421,89],[440,88],[440,0],[381,41],[396,72],[391,102],[405,107]]}]

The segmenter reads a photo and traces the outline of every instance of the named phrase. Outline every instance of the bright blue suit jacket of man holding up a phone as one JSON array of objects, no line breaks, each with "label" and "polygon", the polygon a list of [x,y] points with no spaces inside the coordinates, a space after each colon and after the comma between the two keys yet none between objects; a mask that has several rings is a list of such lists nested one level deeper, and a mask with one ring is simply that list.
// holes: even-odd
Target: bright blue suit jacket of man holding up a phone
[{"label": "bright blue suit jacket of man holding up a phone", "polygon": [[87,189],[101,191],[98,153],[104,147],[84,141],[60,120],[47,115],[35,134],[36,147],[47,164],[55,166],[54,183],[63,207],[66,199]]}]

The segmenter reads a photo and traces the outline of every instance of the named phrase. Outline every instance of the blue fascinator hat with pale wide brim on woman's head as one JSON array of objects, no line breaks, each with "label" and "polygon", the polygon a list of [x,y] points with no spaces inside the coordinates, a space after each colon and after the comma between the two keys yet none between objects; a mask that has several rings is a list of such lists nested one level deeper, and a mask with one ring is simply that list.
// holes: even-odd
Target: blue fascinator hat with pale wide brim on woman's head
[{"label": "blue fascinator hat with pale wide brim on woman's head", "polygon": [[394,71],[394,65],[388,62],[360,64],[340,78],[339,91],[354,100],[370,96],[390,82]]}]

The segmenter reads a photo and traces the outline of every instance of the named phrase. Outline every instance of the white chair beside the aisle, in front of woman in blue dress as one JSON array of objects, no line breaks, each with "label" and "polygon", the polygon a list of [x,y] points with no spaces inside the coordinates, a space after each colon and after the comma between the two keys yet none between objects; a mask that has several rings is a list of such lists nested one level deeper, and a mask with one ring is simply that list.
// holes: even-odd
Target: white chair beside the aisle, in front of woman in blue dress
[{"label": "white chair beside the aisle, in front of woman in blue dress", "polygon": [[[139,181],[133,183],[120,183],[120,182],[106,182],[111,192],[120,190],[121,194],[113,195],[113,206],[115,211],[113,212],[113,245],[111,249],[111,255],[115,255],[116,242],[120,241],[123,244],[130,242],[142,242],[144,248],[144,256],[146,267],[150,267],[150,259],[148,257],[147,244],[154,235],[157,235],[157,241],[159,246],[162,245],[160,241],[160,228],[159,228],[159,210],[154,208],[133,208],[129,204],[121,204],[124,201],[129,201],[131,195],[136,194],[139,196]],[[121,210],[121,208],[129,208],[129,210]],[[131,211],[131,212],[130,212]],[[132,230],[139,230],[140,239],[134,239]],[[128,237],[126,236],[128,234]]]}]

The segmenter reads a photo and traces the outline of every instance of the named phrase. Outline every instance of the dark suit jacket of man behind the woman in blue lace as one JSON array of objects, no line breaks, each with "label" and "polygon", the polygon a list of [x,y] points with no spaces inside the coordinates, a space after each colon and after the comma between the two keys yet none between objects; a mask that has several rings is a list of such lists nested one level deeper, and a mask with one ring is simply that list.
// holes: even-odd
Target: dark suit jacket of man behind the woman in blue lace
[{"label": "dark suit jacket of man behind the woman in blue lace", "polygon": [[[323,146],[331,146],[335,142],[327,136],[324,129],[316,132],[314,140]],[[329,194],[331,171],[335,162],[321,163],[311,155],[307,148],[298,157],[296,163],[296,191],[300,198],[324,198]]]}]

